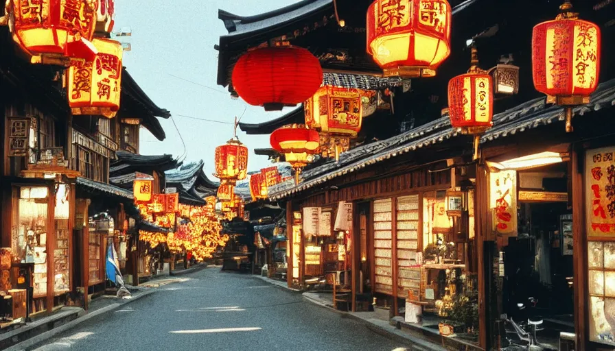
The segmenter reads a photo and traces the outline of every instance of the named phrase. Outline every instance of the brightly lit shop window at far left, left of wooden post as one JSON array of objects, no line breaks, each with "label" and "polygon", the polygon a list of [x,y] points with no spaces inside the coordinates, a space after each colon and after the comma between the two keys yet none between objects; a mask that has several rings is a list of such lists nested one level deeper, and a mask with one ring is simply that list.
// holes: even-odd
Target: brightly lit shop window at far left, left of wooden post
[{"label": "brightly lit shop window at far left, left of wooden post", "polygon": [[[47,295],[47,210],[49,189],[22,187],[14,196],[15,226],[11,245],[22,263],[34,263],[34,298]],[[16,203],[15,203],[16,202]],[[15,207],[15,206],[14,206]]]}]

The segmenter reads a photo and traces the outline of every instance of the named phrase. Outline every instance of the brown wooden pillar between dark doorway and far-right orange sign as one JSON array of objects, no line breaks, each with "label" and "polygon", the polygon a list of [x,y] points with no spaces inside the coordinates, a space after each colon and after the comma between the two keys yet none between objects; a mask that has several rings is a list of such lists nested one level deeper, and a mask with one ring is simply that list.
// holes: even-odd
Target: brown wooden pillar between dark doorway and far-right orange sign
[{"label": "brown wooden pillar between dark doorway and far-right orange sign", "polygon": [[572,185],[572,250],[575,293],[575,334],[577,351],[585,351],[588,315],[587,294],[587,240],[585,238],[585,195],[583,193],[584,152],[581,147],[573,145],[570,152],[570,180]]}]

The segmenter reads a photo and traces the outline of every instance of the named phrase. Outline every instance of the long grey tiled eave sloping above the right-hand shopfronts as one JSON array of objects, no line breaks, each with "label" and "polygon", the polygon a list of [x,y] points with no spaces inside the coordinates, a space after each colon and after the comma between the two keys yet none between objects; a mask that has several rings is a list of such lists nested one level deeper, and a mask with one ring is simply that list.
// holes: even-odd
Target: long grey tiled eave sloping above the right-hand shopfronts
[{"label": "long grey tiled eave sloping above the right-hand shopfronts", "polygon": [[[511,108],[494,116],[494,128],[488,130],[480,143],[489,143],[496,138],[524,132],[541,125],[548,125],[554,121],[564,121],[564,108],[546,105],[545,98],[533,99],[524,104]],[[596,93],[592,95],[590,104],[578,106],[573,109],[574,116],[586,112],[600,110],[608,106],[615,106],[615,80],[600,84]],[[458,130],[450,127],[448,116],[421,125],[418,128],[394,136],[384,141],[378,141],[362,147],[357,147],[340,155],[339,162],[333,160],[305,171],[303,182],[298,186],[288,181],[270,189],[270,199],[281,199],[293,193],[310,189],[340,175],[352,173],[382,160],[393,158],[406,152],[413,152],[422,147],[441,143],[460,134]]]}]

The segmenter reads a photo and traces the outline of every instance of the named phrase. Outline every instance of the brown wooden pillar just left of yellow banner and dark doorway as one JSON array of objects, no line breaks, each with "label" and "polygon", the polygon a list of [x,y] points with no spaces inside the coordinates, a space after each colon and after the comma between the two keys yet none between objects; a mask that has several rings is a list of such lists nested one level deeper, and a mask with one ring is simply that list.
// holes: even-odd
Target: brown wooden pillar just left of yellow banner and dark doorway
[{"label": "brown wooden pillar just left of yellow banner and dark doorway", "polygon": [[485,301],[485,293],[489,287],[485,284],[485,269],[483,269],[484,260],[484,241],[487,232],[490,230],[489,225],[489,173],[485,166],[476,166],[476,191],[474,192],[474,218],[476,228],[476,258],[478,261],[478,343],[481,348],[487,350],[489,335],[487,335],[487,302]]}]

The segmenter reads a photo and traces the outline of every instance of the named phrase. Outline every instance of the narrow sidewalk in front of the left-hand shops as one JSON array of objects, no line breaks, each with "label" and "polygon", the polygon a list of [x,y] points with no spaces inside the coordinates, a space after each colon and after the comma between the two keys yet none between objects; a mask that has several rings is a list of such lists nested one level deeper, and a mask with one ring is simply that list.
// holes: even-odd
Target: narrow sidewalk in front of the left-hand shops
[{"label": "narrow sidewalk in front of the left-hand shops", "polygon": [[88,311],[80,307],[62,307],[51,315],[35,317],[33,322],[21,328],[0,334],[0,350],[25,350],[90,318],[113,311],[156,292],[154,289],[143,287],[130,287],[130,291],[132,292],[130,298],[116,298],[111,295],[96,298],[89,303]]}]

